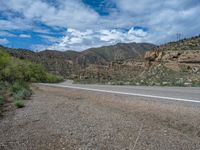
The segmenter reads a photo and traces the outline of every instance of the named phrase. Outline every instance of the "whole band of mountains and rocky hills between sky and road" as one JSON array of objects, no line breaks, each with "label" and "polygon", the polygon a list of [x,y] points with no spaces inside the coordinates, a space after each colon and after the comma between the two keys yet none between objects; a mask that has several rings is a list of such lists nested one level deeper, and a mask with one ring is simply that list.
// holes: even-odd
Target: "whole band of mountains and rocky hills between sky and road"
[{"label": "whole band of mountains and rocky hills between sky and road", "polygon": [[200,36],[155,46],[129,43],[83,52],[7,49],[76,83],[200,86]]}]

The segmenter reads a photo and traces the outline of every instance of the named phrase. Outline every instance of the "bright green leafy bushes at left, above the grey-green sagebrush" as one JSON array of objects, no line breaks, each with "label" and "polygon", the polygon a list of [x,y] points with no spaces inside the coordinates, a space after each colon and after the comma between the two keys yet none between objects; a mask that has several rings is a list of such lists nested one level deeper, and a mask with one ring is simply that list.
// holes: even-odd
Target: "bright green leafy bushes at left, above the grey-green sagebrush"
[{"label": "bright green leafy bushes at left, above the grey-green sagebrush", "polygon": [[9,83],[16,81],[56,83],[63,81],[63,77],[47,73],[41,65],[11,58],[0,50],[0,80]]}]

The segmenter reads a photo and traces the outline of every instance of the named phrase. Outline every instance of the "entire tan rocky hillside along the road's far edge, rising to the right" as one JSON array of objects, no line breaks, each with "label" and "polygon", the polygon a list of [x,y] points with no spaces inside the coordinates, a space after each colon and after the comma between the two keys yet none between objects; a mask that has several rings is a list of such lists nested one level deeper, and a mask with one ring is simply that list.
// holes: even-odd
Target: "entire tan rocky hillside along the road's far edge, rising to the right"
[{"label": "entire tan rocky hillside along the road's far edge, rising to the right", "polygon": [[[200,36],[161,45],[142,59],[114,61],[87,68],[77,82],[200,86]],[[98,69],[97,69],[98,68]]]}]

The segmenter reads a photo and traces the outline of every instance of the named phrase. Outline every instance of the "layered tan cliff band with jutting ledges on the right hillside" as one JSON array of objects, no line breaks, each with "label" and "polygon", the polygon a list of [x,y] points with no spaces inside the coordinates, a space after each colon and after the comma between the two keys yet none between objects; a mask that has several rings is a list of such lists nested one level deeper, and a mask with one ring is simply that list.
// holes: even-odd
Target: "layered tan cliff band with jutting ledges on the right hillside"
[{"label": "layered tan cliff band with jutting ledges on the right hillside", "polygon": [[174,71],[200,72],[200,50],[149,51],[145,60],[150,67],[162,64]]}]

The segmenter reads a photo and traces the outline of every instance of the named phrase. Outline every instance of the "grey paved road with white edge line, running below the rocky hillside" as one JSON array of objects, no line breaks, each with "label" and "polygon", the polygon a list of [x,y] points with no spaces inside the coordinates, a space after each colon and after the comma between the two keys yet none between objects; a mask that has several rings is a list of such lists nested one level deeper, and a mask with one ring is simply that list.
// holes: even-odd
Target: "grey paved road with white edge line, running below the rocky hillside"
[{"label": "grey paved road with white edge line, running below the rocky hillside", "polygon": [[194,88],[194,87],[82,85],[82,84],[72,84],[71,82],[64,82],[61,84],[45,84],[45,85],[96,91],[96,92],[132,95],[132,96],[147,97],[153,99],[200,103],[200,88]]}]

